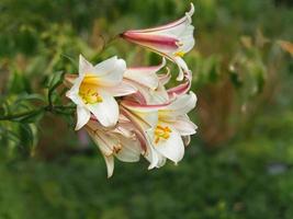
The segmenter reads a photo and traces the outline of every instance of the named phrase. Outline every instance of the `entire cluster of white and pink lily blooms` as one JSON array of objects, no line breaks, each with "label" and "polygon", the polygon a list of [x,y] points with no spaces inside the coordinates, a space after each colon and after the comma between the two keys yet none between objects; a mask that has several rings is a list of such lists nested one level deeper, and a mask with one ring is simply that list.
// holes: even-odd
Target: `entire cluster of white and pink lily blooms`
[{"label": "entire cluster of white and pink lily blooms", "polygon": [[[160,168],[169,159],[178,163],[196,126],[188,113],[196,96],[189,92],[192,73],[183,55],[194,46],[191,16],[167,25],[126,31],[120,36],[162,56],[158,66],[127,68],[123,59],[112,57],[95,66],[79,58],[79,74],[66,74],[67,96],[77,105],[76,130],[84,127],[101,150],[113,174],[114,158],[136,162],[143,155],[148,169]],[[166,59],[178,65],[180,83],[166,89],[169,70],[158,73]]]}]

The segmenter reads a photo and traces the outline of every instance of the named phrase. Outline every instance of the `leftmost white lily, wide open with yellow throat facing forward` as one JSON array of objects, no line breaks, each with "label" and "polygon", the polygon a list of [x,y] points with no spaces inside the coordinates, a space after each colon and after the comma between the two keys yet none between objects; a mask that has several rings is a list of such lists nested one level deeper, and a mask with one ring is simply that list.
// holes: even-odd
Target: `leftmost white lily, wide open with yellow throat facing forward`
[{"label": "leftmost white lily, wide open with yellow throat facing forward", "polygon": [[95,66],[81,55],[79,76],[66,76],[66,84],[71,85],[67,96],[77,104],[76,130],[84,126],[91,114],[105,127],[114,126],[119,119],[119,105],[114,96],[128,95],[136,89],[123,82],[126,64],[112,57]]}]

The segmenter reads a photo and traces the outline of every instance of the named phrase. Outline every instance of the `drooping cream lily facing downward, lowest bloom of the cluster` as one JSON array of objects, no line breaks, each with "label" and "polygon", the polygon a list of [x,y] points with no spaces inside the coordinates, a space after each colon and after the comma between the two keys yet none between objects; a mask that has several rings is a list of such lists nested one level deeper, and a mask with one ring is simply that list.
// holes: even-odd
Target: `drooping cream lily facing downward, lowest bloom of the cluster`
[{"label": "drooping cream lily facing downward, lowest bloom of the cluster", "polygon": [[103,154],[108,177],[113,175],[114,158],[123,162],[139,161],[142,147],[132,127],[129,120],[122,119],[115,128],[105,128],[95,119],[90,119],[86,125],[86,130]]}]

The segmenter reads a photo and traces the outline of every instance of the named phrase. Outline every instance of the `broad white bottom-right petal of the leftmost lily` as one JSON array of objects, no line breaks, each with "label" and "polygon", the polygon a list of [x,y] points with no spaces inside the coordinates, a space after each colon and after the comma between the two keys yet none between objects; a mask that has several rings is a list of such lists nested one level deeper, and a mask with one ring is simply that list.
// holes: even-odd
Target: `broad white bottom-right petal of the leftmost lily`
[{"label": "broad white bottom-right petal of the leftmost lily", "polygon": [[119,104],[110,94],[99,91],[102,102],[88,104],[87,107],[105,127],[114,126],[119,120]]}]

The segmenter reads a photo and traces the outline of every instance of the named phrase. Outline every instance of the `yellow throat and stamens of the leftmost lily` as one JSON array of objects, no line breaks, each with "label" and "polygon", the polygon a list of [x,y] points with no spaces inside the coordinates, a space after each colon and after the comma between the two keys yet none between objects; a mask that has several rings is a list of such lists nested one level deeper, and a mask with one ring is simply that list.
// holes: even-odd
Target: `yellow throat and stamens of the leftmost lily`
[{"label": "yellow throat and stamens of the leftmost lily", "polygon": [[103,102],[98,92],[98,77],[87,74],[79,87],[79,96],[84,104],[94,104]]}]

